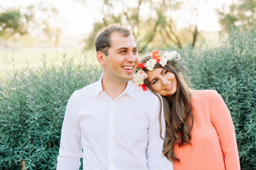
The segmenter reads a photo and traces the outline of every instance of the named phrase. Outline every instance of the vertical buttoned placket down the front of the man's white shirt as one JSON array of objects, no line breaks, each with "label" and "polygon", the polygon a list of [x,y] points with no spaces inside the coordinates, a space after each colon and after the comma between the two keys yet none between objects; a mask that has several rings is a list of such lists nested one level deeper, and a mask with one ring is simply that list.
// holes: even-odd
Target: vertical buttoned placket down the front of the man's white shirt
[{"label": "vertical buttoned placket down the front of the man's white shirt", "polygon": [[111,101],[108,113],[108,164],[109,170],[115,170],[115,106],[116,102]]}]

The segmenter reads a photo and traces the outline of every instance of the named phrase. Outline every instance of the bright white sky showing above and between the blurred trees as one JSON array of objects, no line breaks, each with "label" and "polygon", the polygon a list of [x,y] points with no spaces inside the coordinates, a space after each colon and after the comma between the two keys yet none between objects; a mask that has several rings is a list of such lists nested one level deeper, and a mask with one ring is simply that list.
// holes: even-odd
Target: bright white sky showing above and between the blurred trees
[{"label": "bright white sky showing above and between the blurred trees", "polygon": [[[1,0],[0,7],[24,6],[44,2],[53,5],[59,11],[58,19],[52,21],[52,26],[60,27],[62,32],[68,35],[87,34],[91,31],[93,22],[102,19],[101,0],[85,0],[84,5],[76,0]],[[216,8],[223,4],[229,5],[233,0],[189,0],[184,4],[182,10],[175,13],[178,27],[186,27],[189,23],[195,23],[195,17],[187,10],[192,5],[198,8],[198,30],[217,31],[220,30]],[[136,0],[130,0],[130,4]],[[196,5],[197,4],[197,5]],[[141,14],[147,11],[141,11]]]}]

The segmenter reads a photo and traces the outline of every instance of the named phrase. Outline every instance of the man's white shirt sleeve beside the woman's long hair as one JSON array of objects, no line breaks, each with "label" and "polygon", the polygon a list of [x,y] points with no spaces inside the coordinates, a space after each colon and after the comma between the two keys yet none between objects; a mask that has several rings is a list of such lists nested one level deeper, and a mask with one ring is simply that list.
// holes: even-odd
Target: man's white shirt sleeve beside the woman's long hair
[{"label": "man's white shirt sleeve beside the woman's long hair", "polygon": [[[152,111],[152,117],[150,119],[150,124],[148,127],[148,170],[173,170],[173,163],[162,154],[163,139],[161,139],[160,137],[159,109],[160,102],[158,99],[156,99],[154,106],[150,109]],[[161,110],[161,124],[161,136],[165,137],[165,118],[163,114],[163,109]]]}]

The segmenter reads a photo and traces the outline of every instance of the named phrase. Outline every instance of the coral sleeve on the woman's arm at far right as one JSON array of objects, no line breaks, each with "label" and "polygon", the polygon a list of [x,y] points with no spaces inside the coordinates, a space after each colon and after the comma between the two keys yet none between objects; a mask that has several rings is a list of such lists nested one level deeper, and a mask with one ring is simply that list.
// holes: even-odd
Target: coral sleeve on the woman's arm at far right
[{"label": "coral sleeve on the woman's arm at far right", "polygon": [[219,135],[226,170],[240,170],[234,124],[225,102],[217,91],[212,92],[211,120]]}]

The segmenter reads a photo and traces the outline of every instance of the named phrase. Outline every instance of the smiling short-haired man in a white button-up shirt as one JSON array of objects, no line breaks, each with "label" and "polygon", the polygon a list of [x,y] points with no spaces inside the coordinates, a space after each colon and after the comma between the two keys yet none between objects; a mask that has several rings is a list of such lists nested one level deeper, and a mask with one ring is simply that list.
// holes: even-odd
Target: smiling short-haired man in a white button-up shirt
[{"label": "smiling short-haired man in a white button-up shirt", "polygon": [[95,46],[103,73],[68,101],[57,170],[78,170],[81,157],[84,170],[173,169],[161,153],[158,98],[132,80],[138,63],[133,35],[109,26],[98,33]]}]

